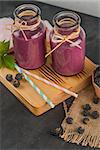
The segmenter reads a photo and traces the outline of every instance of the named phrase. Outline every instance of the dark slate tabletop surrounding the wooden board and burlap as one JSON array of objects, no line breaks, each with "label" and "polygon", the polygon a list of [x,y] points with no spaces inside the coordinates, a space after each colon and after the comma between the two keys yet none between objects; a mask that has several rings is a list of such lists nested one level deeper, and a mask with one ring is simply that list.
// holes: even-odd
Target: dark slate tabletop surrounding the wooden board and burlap
[{"label": "dark slate tabletop surrounding the wooden board and burlap", "polygon": [[[42,9],[42,18],[50,22],[53,15],[64,10],[34,1],[0,1],[0,17],[12,15],[14,8],[23,3],[38,5]],[[87,33],[86,55],[100,64],[100,19],[80,15]],[[65,143],[49,134],[49,130],[59,126],[63,118],[62,104],[40,117],[35,117],[0,83],[0,150],[92,150]]]}]

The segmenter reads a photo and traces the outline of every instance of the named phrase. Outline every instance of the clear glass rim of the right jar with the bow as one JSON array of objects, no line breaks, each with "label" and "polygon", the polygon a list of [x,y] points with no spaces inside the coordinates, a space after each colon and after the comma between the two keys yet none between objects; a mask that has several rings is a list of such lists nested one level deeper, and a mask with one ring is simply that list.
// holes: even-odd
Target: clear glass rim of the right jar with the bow
[{"label": "clear glass rim of the right jar with the bow", "polygon": [[71,28],[74,28],[74,27],[77,27],[77,26],[80,25],[80,23],[81,23],[81,18],[80,18],[80,16],[79,16],[77,13],[75,13],[75,12],[73,12],[73,11],[61,11],[61,12],[58,12],[58,13],[53,17],[53,24],[56,25],[58,28],[61,27],[62,29],[65,29],[66,27],[60,26],[60,25],[58,24],[59,18],[60,18],[60,17],[64,17],[64,16],[66,16],[66,18],[67,18],[67,17],[68,17],[68,18],[71,18],[71,19],[73,19],[73,20],[75,21],[75,23],[74,23],[73,25],[70,25],[70,29],[71,29]]}]

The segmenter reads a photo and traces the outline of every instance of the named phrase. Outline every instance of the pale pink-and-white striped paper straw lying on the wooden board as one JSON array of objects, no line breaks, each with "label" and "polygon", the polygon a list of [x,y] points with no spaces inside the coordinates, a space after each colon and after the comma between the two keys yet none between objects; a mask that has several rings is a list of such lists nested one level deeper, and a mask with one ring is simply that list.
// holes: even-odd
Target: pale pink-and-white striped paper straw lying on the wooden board
[{"label": "pale pink-and-white striped paper straw lying on the wooden board", "polygon": [[46,83],[46,84],[48,84],[48,85],[51,85],[51,86],[53,86],[53,87],[55,87],[55,88],[57,88],[57,89],[59,89],[59,90],[65,92],[65,93],[71,95],[71,96],[74,96],[74,97],[76,97],[76,98],[78,97],[78,94],[76,94],[76,93],[74,93],[74,92],[72,92],[72,91],[70,91],[70,90],[68,90],[68,89],[66,89],[66,88],[64,88],[64,87],[62,87],[62,86],[59,86],[59,85],[57,85],[57,84],[55,84],[55,83],[52,83],[52,82],[50,82],[50,81],[48,81],[48,80],[46,80],[46,79],[44,79],[44,78],[41,78],[41,77],[37,76],[36,74],[33,74],[33,73],[31,73],[31,72],[29,72],[29,71],[27,71],[27,70],[25,70],[25,69],[22,69],[22,70],[23,70],[26,74],[32,76],[33,78],[36,78],[37,80],[40,80],[40,81],[42,81],[42,82],[44,82],[44,83]]}]

